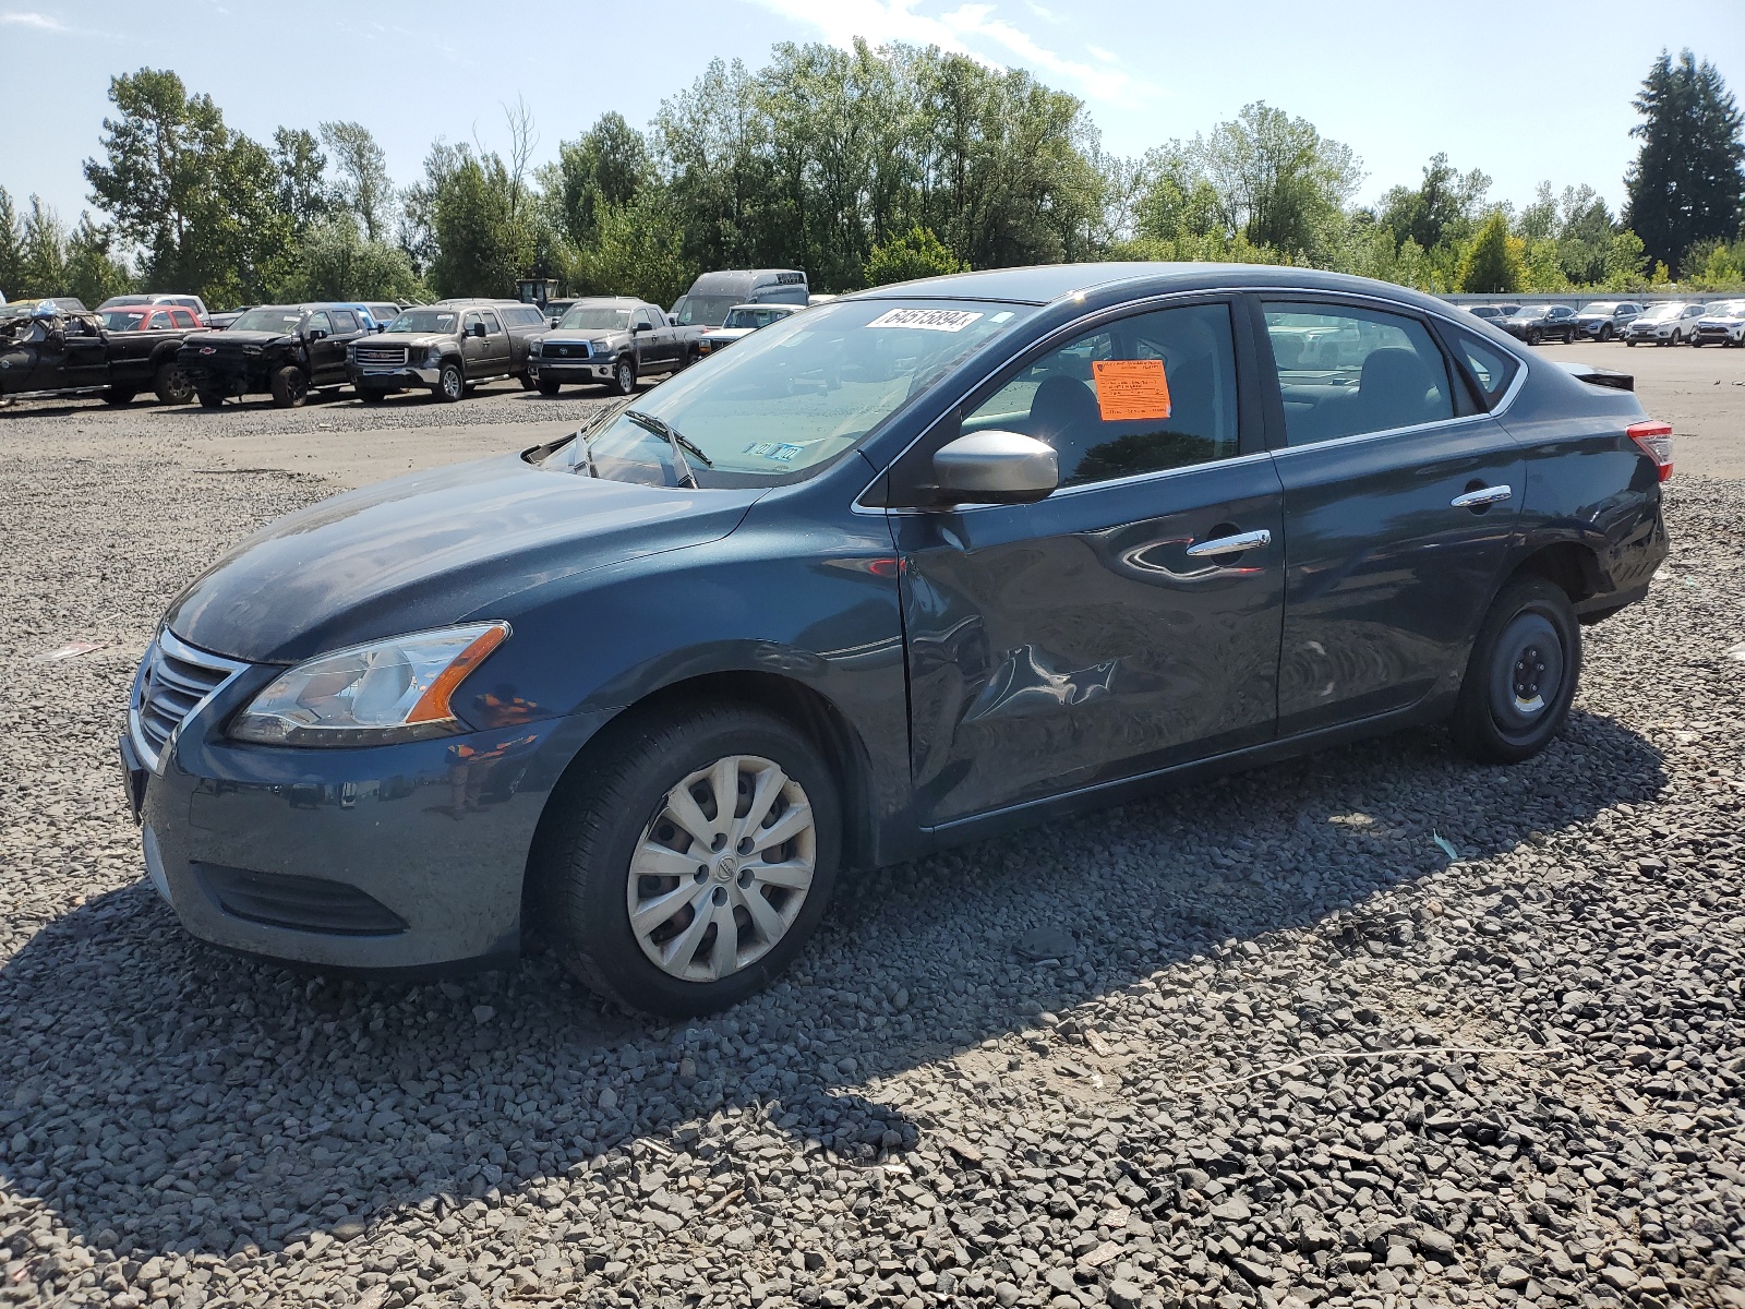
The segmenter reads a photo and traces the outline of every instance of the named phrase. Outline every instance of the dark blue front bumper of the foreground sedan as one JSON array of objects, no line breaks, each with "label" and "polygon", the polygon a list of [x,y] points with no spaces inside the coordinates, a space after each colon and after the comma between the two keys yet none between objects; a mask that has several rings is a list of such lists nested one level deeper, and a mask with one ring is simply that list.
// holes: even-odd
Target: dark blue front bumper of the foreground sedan
[{"label": "dark blue front bumper of the foreground sedan", "polygon": [[281,668],[194,710],[157,770],[120,742],[147,873],[225,949],[342,970],[441,970],[520,948],[544,799],[607,714],[372,749],[234,742],[223,724]]}]

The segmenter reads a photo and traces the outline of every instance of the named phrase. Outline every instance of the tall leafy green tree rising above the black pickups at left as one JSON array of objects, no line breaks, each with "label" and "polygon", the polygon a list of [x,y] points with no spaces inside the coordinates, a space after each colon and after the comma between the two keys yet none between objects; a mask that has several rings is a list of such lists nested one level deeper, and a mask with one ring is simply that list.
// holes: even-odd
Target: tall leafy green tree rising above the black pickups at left
[{"label": "tall leafy green tree rising above the black pickups at left", "polygon": [[168,70],[110,79],[110,99],[106,162],[87,159],[86,182],[115,232],[141,246],[145,284],[213,307],[262,298],[293,230],[274,157]]}]

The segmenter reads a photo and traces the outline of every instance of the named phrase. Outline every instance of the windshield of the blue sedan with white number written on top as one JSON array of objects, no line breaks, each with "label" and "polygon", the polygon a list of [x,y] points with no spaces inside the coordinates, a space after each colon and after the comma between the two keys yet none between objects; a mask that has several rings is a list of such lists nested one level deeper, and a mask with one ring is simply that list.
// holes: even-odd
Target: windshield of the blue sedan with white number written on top
[{"label": "windshield of the blue sedan with white number written on top", "polygon": [[[1031,305],[970,300],[838,300],[789,314],[740,346],[611,410],[544,468],[675,487],[790,480],[855,449]],[[649,422],[630,412],[658,419]],[[674,457],[674,442],[688,442]]]}]

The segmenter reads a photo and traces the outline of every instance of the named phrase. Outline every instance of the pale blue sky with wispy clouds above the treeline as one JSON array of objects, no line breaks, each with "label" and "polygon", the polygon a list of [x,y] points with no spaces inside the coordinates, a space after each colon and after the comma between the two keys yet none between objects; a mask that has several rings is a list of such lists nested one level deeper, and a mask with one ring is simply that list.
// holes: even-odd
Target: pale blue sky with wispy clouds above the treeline
[{"label": "pale blue sky with wispy clouds above the treeline", "polygon": [[[1447,152],[1516,206],[1541,180],[1591,185],[1618,208],[1635,155],[1630,106],[1663,47],[1691,47],[1745,91],[1745,5],[1469,0],[1429,5],[1127,3],[1082,0],[656,0],[625,21],[604,5],[354,0],[347,5],[120,5],[0,0],[0,187],[42,195],[72,225],[89,195],[108,80],[173,68],[225,120],[352,119],[417,180],[436,138],[503,148],[522,98],[536,157],[606,110],[644,126],[719,56],[759,68],[778,42],[935,44],[1024,68],[1084,99],[1112,154],[1138,155],[1263,99],[1363,161],[1359,201],[1415,185]],[[380,14],[377,21],[372,14]]]}]

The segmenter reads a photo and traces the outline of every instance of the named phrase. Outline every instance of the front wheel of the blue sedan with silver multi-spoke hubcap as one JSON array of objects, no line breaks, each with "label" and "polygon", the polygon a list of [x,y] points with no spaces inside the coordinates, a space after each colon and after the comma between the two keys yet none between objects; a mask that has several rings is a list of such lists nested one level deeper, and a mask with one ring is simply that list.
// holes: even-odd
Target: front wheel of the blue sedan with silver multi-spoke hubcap
[{"label": "front wheel of the blue sedan with silver multi-spoke hubcap", "polygon": [[[738,817],[715,826],[715,778],[729,770]],[[689,834],[674,805],[703,831]],[[764,857],[747,850],[750,834],[775,829],[785,840]],[[831,897],[839,840],[836,782],[806,737],[742,705],[674,709],[626,723],[551,794],[534,843],[539,922],[599,995],[665,1018],[710,1014],[761,991],[801,951]],[[757,876],[771,864],[780,878]],[[712,922],[693,934],[700,911]]]}]

